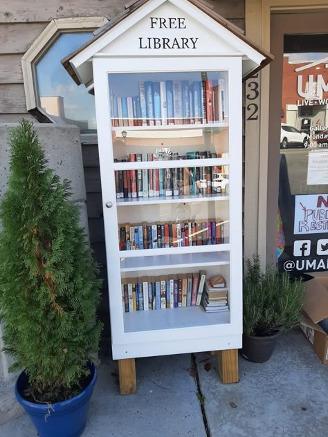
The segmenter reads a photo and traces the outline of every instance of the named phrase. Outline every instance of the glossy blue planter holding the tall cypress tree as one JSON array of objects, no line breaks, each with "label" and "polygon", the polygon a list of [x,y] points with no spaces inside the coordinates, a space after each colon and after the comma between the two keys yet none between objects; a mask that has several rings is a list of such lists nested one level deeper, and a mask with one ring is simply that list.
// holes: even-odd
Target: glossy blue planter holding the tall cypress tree
[{"label": "glossy blue planter holding the tall cypress tree", "polygon": [[89,400],[97,380],[97,370],[91,364],[91,382],[77,396],[64,402],[56,402],[49,409],[46,404],[35,404],[21,397],[26,388],[28,378],[21,373],[15,385],[15,395],[19,404],[30,416],[37,428],[39,437],[79,437],[84,431],[88,416]]}]

